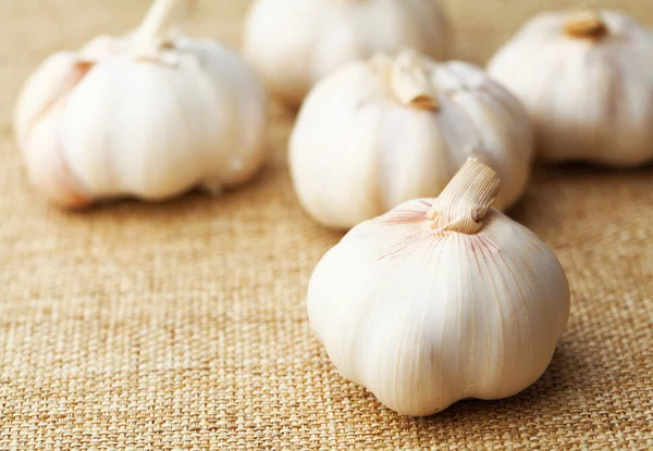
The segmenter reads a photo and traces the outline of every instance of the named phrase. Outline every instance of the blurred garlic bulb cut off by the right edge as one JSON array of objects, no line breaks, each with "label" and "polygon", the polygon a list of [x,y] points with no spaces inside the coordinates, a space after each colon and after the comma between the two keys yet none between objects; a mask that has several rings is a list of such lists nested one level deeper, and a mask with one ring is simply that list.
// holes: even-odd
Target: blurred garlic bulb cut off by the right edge
[{"label": "blurred garlic bulb cut off by the right edge", "polygon": [[612,11],[535,16],[490,75],[529,111],[544,161],[653,160],[653,33]]}]

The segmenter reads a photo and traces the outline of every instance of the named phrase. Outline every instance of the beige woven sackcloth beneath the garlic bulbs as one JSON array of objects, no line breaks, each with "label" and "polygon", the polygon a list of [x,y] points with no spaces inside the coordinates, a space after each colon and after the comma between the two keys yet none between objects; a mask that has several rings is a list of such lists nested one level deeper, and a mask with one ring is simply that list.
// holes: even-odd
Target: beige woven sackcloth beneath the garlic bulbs
[{"label": "beige woven sackcloth beneath the garlic bulbs", "polygon": [[[248,3],[201,0],[188,32],[237,46]],[[572,4],[444,3],[458,57],[477,63],[530,15]],[[651,0],[601,4],[653,25]],[[16,90],[50,52],[132,27],[147,5],[0,0],[0,450],[653,449],[653,166],[535,171],[509,213],[567,271],[568,329],[520,394],[426,418],[344,380],[310,331],[307,281],[342,234],[297,204],[291,114],[274,113],[260,176],[222,197],[44,201],[10,128]]]}]

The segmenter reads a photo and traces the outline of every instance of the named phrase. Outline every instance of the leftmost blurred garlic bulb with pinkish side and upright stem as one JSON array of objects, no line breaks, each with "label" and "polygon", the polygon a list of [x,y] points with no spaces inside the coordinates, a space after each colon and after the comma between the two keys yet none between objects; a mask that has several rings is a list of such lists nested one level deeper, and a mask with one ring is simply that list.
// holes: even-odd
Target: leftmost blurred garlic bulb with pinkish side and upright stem
[{"label": "leftmost blurred garlic bulb with pinkish side and upright stem", "polygon": [[26,82],[16,135],[50,199],[81,206],[219,191],[261,166],[262,83],[221,45],[174,34],[185,3],[157,0],[135,33],[54,53]]}]

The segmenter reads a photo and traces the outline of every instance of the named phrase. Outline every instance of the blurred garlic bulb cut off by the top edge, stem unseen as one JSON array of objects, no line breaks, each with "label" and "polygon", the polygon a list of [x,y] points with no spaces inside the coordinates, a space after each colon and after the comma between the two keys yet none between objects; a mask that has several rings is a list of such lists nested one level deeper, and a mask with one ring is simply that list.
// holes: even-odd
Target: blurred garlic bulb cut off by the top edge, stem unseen
[{"label": "blurred garlic bulb cut off by the top edge, stem unseen", "polygon": [[439,0],[257,0],[245,52],[272,91],[299,104],[320,78],[377,52],[444,58],[449,35]]}]

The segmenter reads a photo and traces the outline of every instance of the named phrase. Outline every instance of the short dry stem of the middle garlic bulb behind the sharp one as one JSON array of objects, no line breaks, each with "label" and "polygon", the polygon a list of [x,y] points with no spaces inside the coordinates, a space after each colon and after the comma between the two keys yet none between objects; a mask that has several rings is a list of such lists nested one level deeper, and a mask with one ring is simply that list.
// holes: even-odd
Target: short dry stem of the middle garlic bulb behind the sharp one
[{"label": "short dry stem of the middle garlic bulb behind the sharp one", "polygon": [[396,98],[405,105],[421,110],[438,111],[438,92],[428,68],[407,52],[397,58],[392,66],[391,87]]}]

